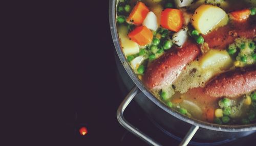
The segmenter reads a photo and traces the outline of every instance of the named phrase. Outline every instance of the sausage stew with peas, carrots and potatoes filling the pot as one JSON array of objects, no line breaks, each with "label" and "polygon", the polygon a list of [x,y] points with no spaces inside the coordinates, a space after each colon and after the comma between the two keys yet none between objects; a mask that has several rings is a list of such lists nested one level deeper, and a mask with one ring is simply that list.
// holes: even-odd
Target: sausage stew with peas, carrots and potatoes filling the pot
[{"label": "sausage stew with peas, carrots and potatoes filling the pot", "polygon": [[119,0],[122,53],[155,98],[189,118],[256,123],[256,2]]}]

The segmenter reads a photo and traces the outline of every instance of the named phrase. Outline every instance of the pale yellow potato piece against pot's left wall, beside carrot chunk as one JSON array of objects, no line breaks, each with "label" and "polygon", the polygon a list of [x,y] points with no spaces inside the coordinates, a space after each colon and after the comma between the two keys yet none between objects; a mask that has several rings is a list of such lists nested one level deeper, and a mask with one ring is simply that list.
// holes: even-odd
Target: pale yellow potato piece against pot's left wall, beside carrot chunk
[{"label": "pale yellow potato piece against pot's left wall, beside carrot chunk", "polygon": [[128,34],[128,28],[121,25],[118,27],[118,35],[120,37],[121,47],[123,50],[123,54],[125,56],[133,55],[136,53],[139,53],[139,45],[130,40],[130,38],[127,36]]}]

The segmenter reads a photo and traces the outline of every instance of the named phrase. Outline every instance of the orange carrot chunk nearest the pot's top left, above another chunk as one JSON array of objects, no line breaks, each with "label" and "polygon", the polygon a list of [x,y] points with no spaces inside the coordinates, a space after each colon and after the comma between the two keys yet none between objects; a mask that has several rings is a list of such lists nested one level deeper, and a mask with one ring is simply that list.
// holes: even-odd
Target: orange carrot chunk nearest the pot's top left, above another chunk
[{"label": "orange carrot chunk nearest the pot's top left, above another chunk", "polygon": [[138,2],[126,21],[128,23],[133,23],[134,25],[141,25],[148,12],[150,12],[150,10],[146,5],[142,2]]}]

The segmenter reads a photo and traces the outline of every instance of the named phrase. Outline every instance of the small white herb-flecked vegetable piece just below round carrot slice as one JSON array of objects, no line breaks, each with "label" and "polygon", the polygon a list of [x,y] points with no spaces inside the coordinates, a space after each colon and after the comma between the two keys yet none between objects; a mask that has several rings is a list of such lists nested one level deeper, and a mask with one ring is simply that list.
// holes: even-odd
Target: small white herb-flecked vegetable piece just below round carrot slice
[{"label": "small white herb-flecked vegetable piece just below round carrot slice", "polygon": [[178,46],[182,46],[185,41],[187,40],[187,28],[182,28],[179,32],[173,35],[173,43],[177,44]]}]

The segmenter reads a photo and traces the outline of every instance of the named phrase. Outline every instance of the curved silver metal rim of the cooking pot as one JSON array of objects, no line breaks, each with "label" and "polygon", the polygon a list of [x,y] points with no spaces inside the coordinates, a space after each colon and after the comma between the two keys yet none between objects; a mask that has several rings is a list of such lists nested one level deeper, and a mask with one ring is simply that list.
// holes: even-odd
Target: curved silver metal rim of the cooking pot
[{"label": "curved silver metal rim of the cooking pot", "polygon": [[170,115],[175,116],[176,118],[183,120],[191,125],[199,126],[201,128],[215,130],[215,131],[223,131],[223,132],[243,132],[243,131],[253,131],[256,130],[256,124],[249,124],[249,125],[218,125],[218,124],[211,124],[205,121],[201,121],[198,119],[189,118],[185,115],[178,113],[175,110],[170,109],[160,100],[155,98],[155,96],[143,85],[141,80],[136,76],[135,72],[127,62],[123,52],[121,51],[121,45],[119,42],[119,37],[117,33],[117,26],[116,26],[116,0],[110,1],[109,4],[109,21],[110,21],[110,29],[112,39],[115,45],[115,49],[117,55],[123,64],[124,69],[126,70],[127,74],[133,80],[135,85],[150,99],[153,103],[163,109],[165,112],[169,113]]}]

